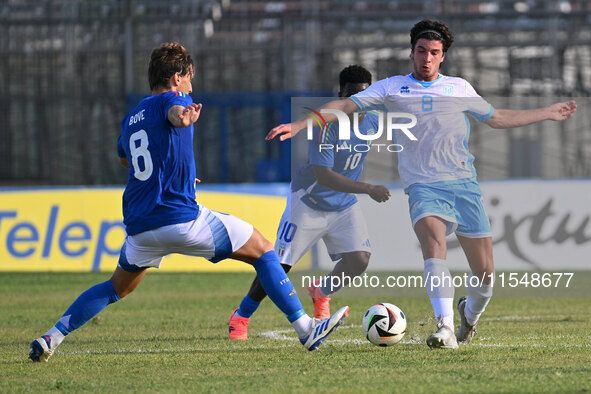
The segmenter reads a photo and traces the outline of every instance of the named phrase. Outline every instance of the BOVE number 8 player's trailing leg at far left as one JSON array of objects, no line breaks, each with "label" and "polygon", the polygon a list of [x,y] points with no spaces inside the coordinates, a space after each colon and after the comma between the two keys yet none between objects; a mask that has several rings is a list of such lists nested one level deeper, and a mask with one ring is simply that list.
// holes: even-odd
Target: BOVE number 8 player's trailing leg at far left
[{"label": "BOVE number 8 player's trailing leg at far left", "polygon": [[111,279],[83,292],[49,331],[31,343],[29,358],[47,362],[66,335],[82,327],[107,305],[131,293],[144,275],[145,269],[127,272],[117,267]]}]

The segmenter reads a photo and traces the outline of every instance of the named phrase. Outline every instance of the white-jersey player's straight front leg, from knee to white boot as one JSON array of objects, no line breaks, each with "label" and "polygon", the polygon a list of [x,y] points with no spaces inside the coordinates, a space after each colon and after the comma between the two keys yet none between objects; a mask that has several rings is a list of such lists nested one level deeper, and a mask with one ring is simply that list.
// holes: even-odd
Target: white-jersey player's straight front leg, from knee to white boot
[{"label": "white-jersey player's straight front leg, from knee to white boot", "polygon": [[455,349],[454,312],[451,274],[445,261],[447,222],[436,216],[420,219],[414,227],[421,244],[424,278],[431,306],[437,320],[437,331],[429,335],[427,345],[432,349]]}]

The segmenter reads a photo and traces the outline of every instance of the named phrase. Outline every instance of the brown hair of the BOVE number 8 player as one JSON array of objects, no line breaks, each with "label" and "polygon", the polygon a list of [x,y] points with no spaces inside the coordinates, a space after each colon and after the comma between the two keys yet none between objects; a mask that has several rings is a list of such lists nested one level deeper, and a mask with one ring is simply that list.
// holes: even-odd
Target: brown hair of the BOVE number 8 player
[{"label": "brown hair of the BOVE number 8 player", "polygon": [[152,51],[148,67],[150,89],[170,88],[170,77],[175,73],[185,76],[194,72],[193,59],[181,44],[165,43]]}]

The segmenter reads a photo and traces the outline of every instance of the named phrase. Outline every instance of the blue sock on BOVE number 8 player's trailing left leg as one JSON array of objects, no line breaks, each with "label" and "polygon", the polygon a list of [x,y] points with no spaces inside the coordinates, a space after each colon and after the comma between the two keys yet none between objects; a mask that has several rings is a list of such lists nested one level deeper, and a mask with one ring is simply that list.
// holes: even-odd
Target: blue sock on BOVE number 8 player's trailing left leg
[{"label": "blue sock on BOVE number 8 player's trailing left leg", "polygon": [[111,281],[99,283],[80,294],[55,327],[62,334],[68,335],[98,315],[107,305],[117,301],[119,301],[119,295]]}]

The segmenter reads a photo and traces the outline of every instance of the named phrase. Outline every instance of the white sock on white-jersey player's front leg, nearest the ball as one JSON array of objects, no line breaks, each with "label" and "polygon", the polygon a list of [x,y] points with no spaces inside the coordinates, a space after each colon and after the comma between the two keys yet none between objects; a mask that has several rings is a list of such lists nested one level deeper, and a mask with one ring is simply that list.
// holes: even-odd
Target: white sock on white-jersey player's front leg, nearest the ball
[{"label": "white sock on white-jersey player's front leg, nearest the ball", "polygon": [[443,259],[425,260],[425,286],[435,319],[454,329],[454,288],[447,263]]}]

